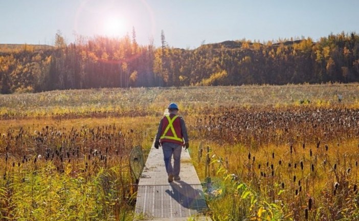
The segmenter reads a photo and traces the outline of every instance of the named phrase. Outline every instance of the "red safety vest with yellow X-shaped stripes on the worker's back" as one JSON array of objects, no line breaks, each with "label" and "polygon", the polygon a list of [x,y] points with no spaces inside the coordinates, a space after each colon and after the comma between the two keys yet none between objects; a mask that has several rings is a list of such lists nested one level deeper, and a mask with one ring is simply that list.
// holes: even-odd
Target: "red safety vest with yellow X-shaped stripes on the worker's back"
[{"label": "red safety vest with yellow X-shaped stripes on the worker's back", "polygon": [[[170,115],[173,116],[173,115]],[[183,145],[183,136],[181,130],[180,118],[174,115],[171,119],[170,116],[163,117],[162,130],[161,130],[161,143],[169,142]]]}]

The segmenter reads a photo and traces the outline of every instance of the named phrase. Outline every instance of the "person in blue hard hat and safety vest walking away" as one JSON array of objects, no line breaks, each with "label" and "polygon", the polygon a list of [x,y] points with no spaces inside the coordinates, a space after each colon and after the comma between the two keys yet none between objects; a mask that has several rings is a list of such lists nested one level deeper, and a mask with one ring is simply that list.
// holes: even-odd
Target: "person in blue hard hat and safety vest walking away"
[{"label": "person in blue hard hat and safety vest walking away", "polygon": [[[181,151],[182,147],[189,147],[185,120],[178,116],[178,106],[175,103],[168,105],[169,115],[164,116],[157,131],[154,148],[162,146],[163,156],[168,175],[168,182],[181,180]],[[173,166],[171,159],[173,156]]]}]

